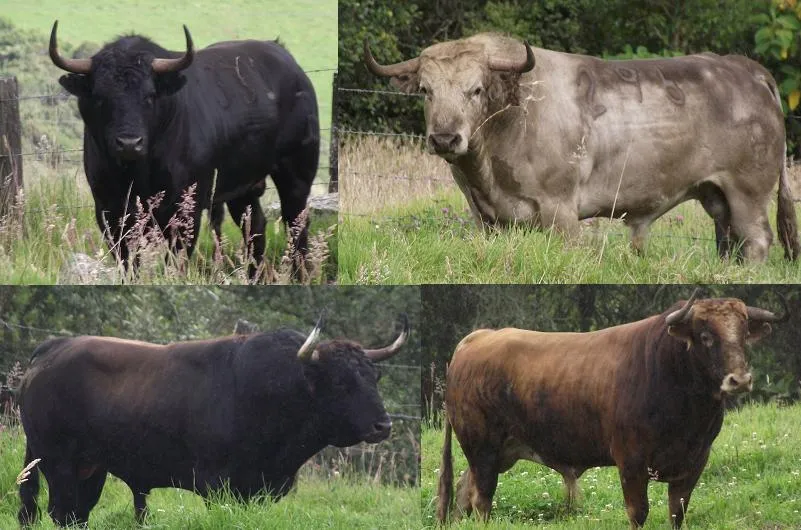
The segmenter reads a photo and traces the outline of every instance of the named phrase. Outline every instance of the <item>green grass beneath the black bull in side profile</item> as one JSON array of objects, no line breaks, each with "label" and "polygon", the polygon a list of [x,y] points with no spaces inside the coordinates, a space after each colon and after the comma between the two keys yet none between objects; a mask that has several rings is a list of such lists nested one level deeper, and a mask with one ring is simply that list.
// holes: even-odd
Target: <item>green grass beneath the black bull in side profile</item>
[{"label": "green grass beneath the black bull in side profile", "polygon": [[[16,429],[0,431],[0,528],[16,528],[19,509],[14,479],[22,468],[24,437]],[[40,506],[47,506],[42,480]],[[238,503],[222,495],[207,507],[188,491],[154,490],[148,499],[150,517],[145,528],[268,529],[268,528],[420,528],[420,493],[416,488],[372,484],[366,477],[326,480],[301,472],[297,489],[277,503]],[[90,527],[142,528],[134,523],[130,490],[109,477]],[[47,516],[33,528],[56,528]]]}]

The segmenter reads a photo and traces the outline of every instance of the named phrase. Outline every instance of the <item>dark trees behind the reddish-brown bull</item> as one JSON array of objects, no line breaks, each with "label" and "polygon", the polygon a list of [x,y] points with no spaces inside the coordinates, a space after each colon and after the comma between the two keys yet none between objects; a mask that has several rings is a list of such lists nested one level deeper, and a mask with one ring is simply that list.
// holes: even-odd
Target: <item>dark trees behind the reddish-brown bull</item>
[{"label": "dark trees behind the reddish-brown bull", "polygon": [[[456,344],[478,328],[517,327],[538,331],[593,331],[659,314],[692,294],[691,285],[423,286],[421,340],[423,403],[439,410],[445,366]],[[801,380],[801,288],[794,286],[705,286],[701,297],[734,297],[776,314],[787,301],[790,319],[749,346],[756,400],[794,401]]]}]

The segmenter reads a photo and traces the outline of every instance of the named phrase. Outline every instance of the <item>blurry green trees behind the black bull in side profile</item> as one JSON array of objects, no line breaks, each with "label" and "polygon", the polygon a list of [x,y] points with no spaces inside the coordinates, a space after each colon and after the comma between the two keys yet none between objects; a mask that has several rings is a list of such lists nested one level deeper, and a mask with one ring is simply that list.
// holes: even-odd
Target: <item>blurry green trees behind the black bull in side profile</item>
[{"label": "blurry green trees behind the black bull in side profile", "polygon": [[[230,335],[237,321],[254,329],[308,333],[325,309],[323,339],[348,338],[386,346],[407,313],[412,330],[404,349],[382,363],[379,389],[396,418],[391,438],[377,446],[326,450],[326,469],[377,473],[385,482],[416,483],[419,453],[420,291],[417,287],[0,287],[0,384],[33,349],[60,335],[106,335],[167,343]],[[389,365],[389,366],[388,366]],[[411,367],[411,368],[410,368]],[[2,423],[2,422],[0,422]],[[390,466],[390,463],[392,464]]]}]

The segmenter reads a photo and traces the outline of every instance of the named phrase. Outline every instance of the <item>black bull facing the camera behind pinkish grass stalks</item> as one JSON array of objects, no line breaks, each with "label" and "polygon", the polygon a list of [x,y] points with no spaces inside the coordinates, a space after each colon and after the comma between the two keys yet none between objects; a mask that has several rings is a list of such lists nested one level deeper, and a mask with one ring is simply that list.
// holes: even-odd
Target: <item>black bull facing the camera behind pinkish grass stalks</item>
[{"label": "black bull facing the camera behind pinkish grass stalks", "polygon": [[[57,27],[50,57],[71,72],[59,82],[78,97],[84,169],[97,223],[115,254],[128,263],[125,236],[136,221],[137,198],[146,203],[164,192],[153,219],[173,231],[167,237],[175,250],[191,255],[204,208],[214,207],[219,236],[225,203],[252,243],[255,275],[265,247],[259,203],[264,179],[272,177],[282,217],[293,226],[319,159],[314,88],[289,52],[278,42],[255,40],[195,52],[184,26],[183,54],[132,35],[106,44],[91,59],[67,59],[58,52]],[[192,184],[193,226],[176,234],[170,220]],[[296,267],[307,250],[307,223],[299,228],[292,242]]]}]

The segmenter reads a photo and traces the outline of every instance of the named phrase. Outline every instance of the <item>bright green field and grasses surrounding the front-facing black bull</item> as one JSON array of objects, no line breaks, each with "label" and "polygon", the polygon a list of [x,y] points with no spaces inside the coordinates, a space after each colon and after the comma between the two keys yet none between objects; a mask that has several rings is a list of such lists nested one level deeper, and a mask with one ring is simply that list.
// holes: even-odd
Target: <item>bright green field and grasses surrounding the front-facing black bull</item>
[{"label": "bright green field and grasses surrounding the front-facing black bull", "polygon": [[[0,220],[0,282],[71,283],[64,274],[76,253],[107,267],[114,267],[94,219],[93,200],[83,174],[80,149],[83,124],[75,98],[39,98],[60,94],[58,78],[63,73],[47,57],[47,37],[53,20],[59,20],[59,46],[70,55],[76,49],[93,53],[120,34],[137,32],[169,49],[183,49],[181,25],[192,32],[197,48],[221,40],[280,37],[301,67],[308,71],[320,105],[321,158],[312,194],[328,188],[328,150],[331,120],[331,83],[337,66],[337,4],[335,0],[234,0],[221,6],[210,0],[157,2],[125,0],[112,4],[44,0],[35,5],[12,2],[3,6],[0,19],[0,75],[14,75],[20,85],[20,115],[23,125],[23,170],[25,196],[17,211]],[[90,21],[90,22],[89,22]],[[13,59],[13,57],[17,57]],[[278,200],[268,180],[262,203]],[[22,214],[22,215],[20,215]],[[312,215],[310,237],[315,239],[309,283],[327,283],[336,278],[337,219],[334,214]],[[286,233],[278,222],[279,212],[267,212],[267,281],[288,281],[289,268],[283,256]],[[248,257],[238,226],[230,216],[223,226],[222,254],[214,255],[210,229],[205,222],[198,248],[191,260],[184,256],[164,262],[164,246],[153,241],[145,262],[150,261],[128,283],[243,283],[247,281]],[[24,237],[23,237],[24,235]],[[158,255],[158,256],[157,256]],[[101,273],[98,283],[121,281],[123,274]]]}]

